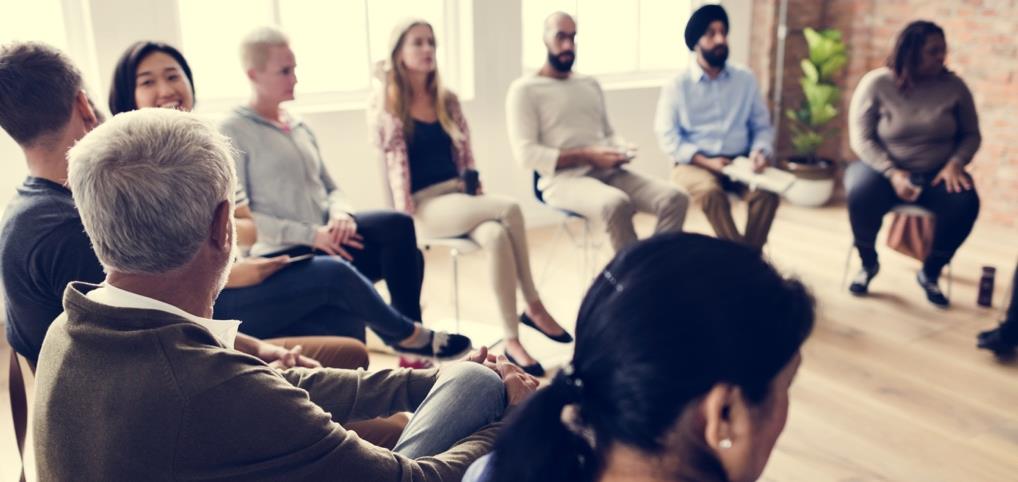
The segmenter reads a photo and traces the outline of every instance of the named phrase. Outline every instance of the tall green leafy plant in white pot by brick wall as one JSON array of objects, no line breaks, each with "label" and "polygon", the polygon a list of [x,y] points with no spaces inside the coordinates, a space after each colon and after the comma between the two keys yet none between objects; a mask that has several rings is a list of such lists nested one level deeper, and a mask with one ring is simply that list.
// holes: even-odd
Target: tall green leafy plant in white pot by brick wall
[{"label": "tall green leafy plant in white pot by brick wall", "polygon": [[817,32],[805,29],[809,57],[801,61],[802,103],[798,109],[788,109],[791,120],[792,147],[795,155],[782,162],[782,167],[796,176],[785,198],[800,206],[823,206],[834,194],[835,162],[817,154],[824,143],[837,135],[830,123],[838,116],[841,89],[834,77],[848,61],[841,32],[829,29]]}]

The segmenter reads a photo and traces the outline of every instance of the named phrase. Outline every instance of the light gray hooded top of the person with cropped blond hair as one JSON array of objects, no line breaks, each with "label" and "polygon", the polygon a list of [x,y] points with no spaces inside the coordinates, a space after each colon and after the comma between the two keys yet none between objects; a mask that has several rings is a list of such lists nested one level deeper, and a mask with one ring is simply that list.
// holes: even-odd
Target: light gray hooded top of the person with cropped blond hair
[{"label": "light gray hooded top of the person with cropped blond hair", "polygon": [[353,211],[302,120],[294,119],[287,132],[249,107],[237,107],[220,130],[233,141],[237,188],[246,194],[258,227],[252,255],[310,246],[316,228],[330,216]]}]

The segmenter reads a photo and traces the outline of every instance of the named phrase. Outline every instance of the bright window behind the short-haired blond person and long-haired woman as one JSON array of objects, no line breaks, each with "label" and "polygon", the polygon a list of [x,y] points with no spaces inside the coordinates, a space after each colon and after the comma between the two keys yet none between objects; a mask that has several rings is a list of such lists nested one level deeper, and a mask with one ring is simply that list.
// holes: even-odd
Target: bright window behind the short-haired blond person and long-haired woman
[{"label": "bright window behind the short-haired blond person and long-haired woman", "polygon": [[[178,0],[180,36],[202,104],[245,98],[239,45],[260,25],[287,33],[297,57],[297,99],[314,103],[363,97],[376,62],[389,55],[389,37],[402,18],[435,28],[438,61],[450,87],[469,90],[472,35],[461,21],[468,0]],[[468,16],[467,16],[468,18]]]}]

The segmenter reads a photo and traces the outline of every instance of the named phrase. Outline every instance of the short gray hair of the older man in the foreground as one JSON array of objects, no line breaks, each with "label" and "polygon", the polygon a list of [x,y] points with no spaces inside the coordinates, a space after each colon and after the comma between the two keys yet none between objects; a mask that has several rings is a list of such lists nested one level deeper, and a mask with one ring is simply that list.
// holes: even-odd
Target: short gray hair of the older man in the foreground
[{"label": "short gray hair of the older man in the foreground", "polygon": [[183,266],[209,239],[216,207],[231,203],[229,141],[192,114],[116,115],[68,153],[68,183],[107,271],[157,274]]}]

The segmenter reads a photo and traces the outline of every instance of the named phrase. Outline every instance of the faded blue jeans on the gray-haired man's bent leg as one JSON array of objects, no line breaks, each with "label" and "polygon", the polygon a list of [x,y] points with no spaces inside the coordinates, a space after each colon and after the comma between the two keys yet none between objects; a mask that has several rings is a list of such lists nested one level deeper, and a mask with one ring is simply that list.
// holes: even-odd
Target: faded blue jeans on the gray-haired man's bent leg
[{"label": "faded blue jeans on the gray-haired man's bent leg", "polygon": [[505,384],[492,369],[472,362],[446,365],[393,451],[410,459],[437,456],[501,419],[505,409]]}]

